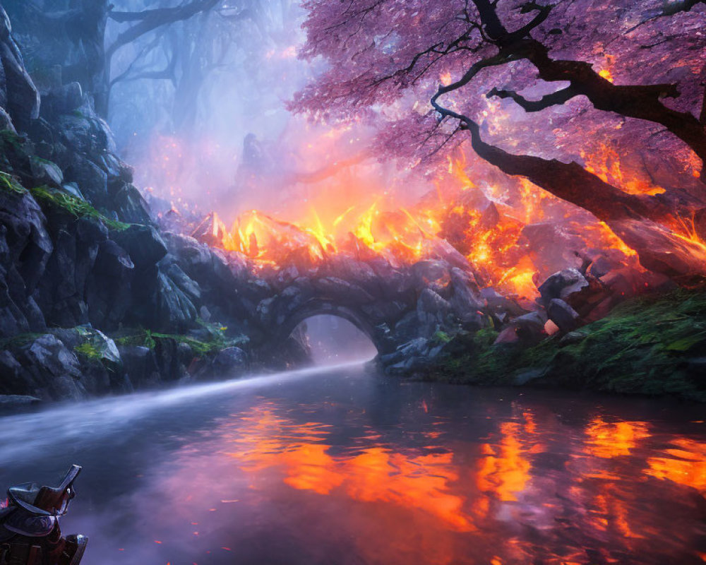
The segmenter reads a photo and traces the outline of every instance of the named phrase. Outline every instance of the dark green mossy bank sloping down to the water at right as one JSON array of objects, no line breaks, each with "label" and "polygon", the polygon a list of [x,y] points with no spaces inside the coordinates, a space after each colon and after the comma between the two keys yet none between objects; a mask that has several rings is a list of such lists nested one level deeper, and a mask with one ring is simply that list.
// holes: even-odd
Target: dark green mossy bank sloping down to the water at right
[{"label": "dark green mossy bank sloping down to the water at right", "polygon": [[[487,335],[484,335],[487,334]],[[706,401],[706,293],[633,299],[534,347],[491,345],[491,331],[441,359],[429,378],[592,388]]]}]

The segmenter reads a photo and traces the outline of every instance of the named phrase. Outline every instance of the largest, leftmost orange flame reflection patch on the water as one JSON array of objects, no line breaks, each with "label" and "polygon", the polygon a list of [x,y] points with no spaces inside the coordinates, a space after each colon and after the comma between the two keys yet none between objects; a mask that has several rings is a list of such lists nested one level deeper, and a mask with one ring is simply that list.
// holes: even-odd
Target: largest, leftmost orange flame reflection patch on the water
[{"label": "largest, leftmost orange flame reflection patch on the water", "polygon": [[406,454],[371,446],[354,456],[337,457],[330,455],[330,445],[319,443],[330,432],[323,424],[294,426],[268,408],[243,420],[246,425],[236,439],[239,448],[231,455],[247,472],[282,468],[285,484],[295,489],[318,494],[342,489],[357,501],[421,510],[453,530],[474,530],[462,510],[464,499],[450,492],[450,484],[459,478],[452,453]]}]

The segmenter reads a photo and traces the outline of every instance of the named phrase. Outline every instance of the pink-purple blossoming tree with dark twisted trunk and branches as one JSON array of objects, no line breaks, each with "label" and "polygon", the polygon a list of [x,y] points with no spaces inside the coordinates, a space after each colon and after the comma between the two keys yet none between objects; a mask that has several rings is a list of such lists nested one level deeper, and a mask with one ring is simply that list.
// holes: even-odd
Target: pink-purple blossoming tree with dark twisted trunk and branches
[{"label": "pink-purple blossoming tree with dark twisted trunk and branches", "polygon": [[[301,57],[329,66],[294,97],[295,111],[373,120],[380,157],[418,166],[469,140],[506,174],[604,220],[648,268],[706,273],[703,1],[304,6]],[[650,158],[676,155],[681,170],[655,194],[630,194],[582,158],[611,138]]]}]

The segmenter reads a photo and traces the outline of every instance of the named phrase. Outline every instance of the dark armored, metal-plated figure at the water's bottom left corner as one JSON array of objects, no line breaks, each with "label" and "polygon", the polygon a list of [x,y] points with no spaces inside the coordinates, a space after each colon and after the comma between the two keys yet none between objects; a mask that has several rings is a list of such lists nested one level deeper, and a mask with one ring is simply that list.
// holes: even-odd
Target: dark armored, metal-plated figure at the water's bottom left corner
[{"label": "dark armored, metal-plated figure at the water's bottom left corner", "polygon": [[0,565],[78,565],[88,538],[61,536],[59,517],[76,496],[73,482],[81,468],[72,465],[58,487],[35,483],[8,489],[0,507]]}]

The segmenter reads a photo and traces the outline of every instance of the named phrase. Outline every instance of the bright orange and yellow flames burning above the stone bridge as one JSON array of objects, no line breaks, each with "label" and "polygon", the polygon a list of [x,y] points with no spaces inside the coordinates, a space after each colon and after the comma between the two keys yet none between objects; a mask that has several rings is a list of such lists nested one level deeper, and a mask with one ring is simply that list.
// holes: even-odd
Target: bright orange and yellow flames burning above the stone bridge
[{"label": "bright orange and yellow flames burning above the stone bridge", "polygon": [[[626,183],[614,161],[602,165],[600,171],[592,163],[606,179],[618,175],[616,182],[627,184],[630,191],[649,193],[637,181],[635,186]],[[448,172],[436,181],[436,191],[408,208],[385,194],[367,203],[361,203],[360,196],[352,196],[352,201],[325,201],[324,195],[318,204],[316,197],[310,199],[311,205],[293,222],[251,210],[228,227],[214,213],[209,218],[209,239],[229,251],[276,266],[292,261],[318,263],[337,253],[362,260],[383,256],[393,264],[409,264],[421,258],[445,258],[444,249],[449,249],[443,246],[445,240],[465,256],[484,284],[532,299],[537,296],[538,278],[561,266],[547,261],[551,253],[540,249],[544,244],[527,243],[523,230],[528,225],[561,223],[575,234],[571,244],[575,247],[563,252],[616,249],[624,259],[630,258],[630,266],[639,268],[635,251],[604,222],[577,212],[525,179],[510,187],[477,186],[465,169],[464,157],[449,160]],[[552,238],[545,236],[546,246],[556,246]]]}]

